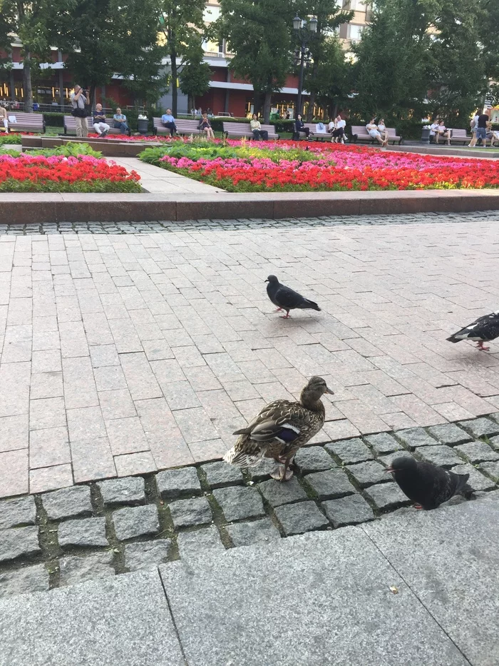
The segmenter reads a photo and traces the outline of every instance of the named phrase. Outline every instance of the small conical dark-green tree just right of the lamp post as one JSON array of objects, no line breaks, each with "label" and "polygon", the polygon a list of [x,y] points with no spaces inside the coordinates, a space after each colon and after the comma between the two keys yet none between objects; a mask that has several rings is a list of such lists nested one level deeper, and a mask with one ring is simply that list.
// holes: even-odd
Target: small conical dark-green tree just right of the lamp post
[{"label": "small conical dark-green tree just right of the lamp post", "polygon": [[334,118],[340,109],[349,106],[351,69],[351,62],[345,59],[339,39],[335,35],[326,38],[317,67],[307,72],[305,78],[305,88],[310,92],[310,106],[313,96],[314,101],[326,109],[329,118]]}]

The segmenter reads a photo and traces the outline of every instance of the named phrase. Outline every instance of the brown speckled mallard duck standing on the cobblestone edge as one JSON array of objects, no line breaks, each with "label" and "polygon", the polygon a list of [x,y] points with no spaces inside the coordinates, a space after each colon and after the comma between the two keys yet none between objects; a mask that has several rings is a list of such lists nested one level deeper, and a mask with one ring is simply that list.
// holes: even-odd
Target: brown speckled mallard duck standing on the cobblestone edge
[{"label": "brown speckled mallard duck standing on the cobblestone edge", "polygon": [[279,463],[279,469],[271,476],[280,481],[292,478],[292,470],[288,468],[297,450],[324,425],[326,410],[321,401],[324,393],[334,395],[323,378],[312,377],[297,402],[274,400],[247,428],[235,431],[239,437],[225,454],[225,462],[237,467],[254,467],[262,458],[273,458]]}]

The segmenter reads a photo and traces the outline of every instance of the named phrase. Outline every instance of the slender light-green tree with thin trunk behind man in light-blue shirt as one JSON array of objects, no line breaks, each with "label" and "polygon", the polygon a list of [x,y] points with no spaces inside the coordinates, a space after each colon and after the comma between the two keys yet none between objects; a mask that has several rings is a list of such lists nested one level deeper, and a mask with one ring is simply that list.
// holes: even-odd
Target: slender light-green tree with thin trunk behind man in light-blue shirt
[{"label": "slender light-green tree with thin trunk behind man in light-blue shirt", "polygon": [[[205,29],[203,14],[205,0],[160,0],[160,26],[165,35],[166,51],[170,60],[172,86],[172,113],[177,115],[178,72],[192,54],[192,44],[197,44]],[[177,60],[180,58],[180,63]],[[201,58],[198,61],[202,60]]]}]

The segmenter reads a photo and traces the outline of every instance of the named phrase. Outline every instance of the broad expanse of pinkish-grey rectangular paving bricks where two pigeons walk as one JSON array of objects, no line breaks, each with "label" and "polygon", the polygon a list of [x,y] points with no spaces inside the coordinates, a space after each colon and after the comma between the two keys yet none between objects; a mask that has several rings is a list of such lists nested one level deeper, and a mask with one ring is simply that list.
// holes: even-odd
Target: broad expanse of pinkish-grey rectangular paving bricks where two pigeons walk
[{"label": "broad expanse of pinkish-grey rectangular paving bricks where two pigeons walk", "polygon": [[[445,338],[498,308],[498,221],[4,226],[0,497],[216,460],[313,374],[315,444],[495,412],[499,347]],[[269,273],[322,311],[283,321]]]}]

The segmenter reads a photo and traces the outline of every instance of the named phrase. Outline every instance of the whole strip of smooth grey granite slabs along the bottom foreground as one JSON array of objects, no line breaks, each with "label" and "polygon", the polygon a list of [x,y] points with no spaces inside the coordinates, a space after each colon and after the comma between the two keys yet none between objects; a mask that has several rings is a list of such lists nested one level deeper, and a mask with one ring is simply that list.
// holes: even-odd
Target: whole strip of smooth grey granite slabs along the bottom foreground
[{"label": "whole strip of smooth grey granite slabs along the bottom foreground", "polygon": [[495,666],[497,495],[0,600],[0,666]]}]

